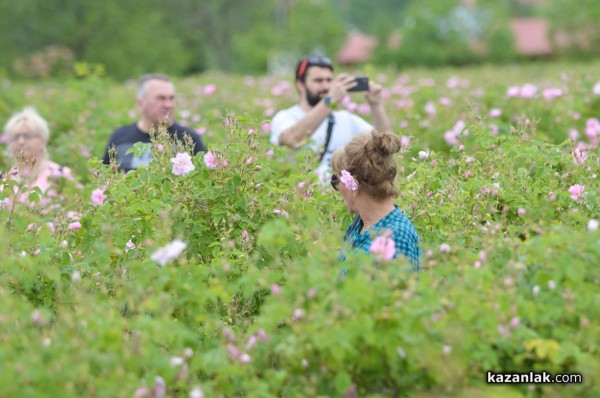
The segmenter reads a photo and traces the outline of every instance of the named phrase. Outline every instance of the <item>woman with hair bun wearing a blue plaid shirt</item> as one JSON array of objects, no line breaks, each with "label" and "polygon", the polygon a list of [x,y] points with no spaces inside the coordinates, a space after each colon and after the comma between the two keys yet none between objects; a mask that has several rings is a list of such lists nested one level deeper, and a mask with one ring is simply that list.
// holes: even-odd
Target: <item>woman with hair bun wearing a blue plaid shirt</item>
[{"label": "woman with hair bun wearing a blue plaid shirt", "polygon": [[355,251],[384,261],[403,255],[418,270],[419,235],[394,204],[398,196],[394,155],[400,148],[400,138],[392,133],[357,135],[333,154],[331,185],[340,192],[348,210],[356,214],[344,237]]}]

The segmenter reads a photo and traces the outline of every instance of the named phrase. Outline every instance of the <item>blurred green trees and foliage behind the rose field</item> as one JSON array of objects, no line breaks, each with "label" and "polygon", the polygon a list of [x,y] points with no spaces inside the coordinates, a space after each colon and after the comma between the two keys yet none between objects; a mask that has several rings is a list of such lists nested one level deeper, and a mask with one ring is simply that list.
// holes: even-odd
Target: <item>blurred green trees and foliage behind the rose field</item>
[{"label": "blurred green trees and foliage behind the rose field", "polygon": [[510,62],[519,17],[545,18],[553,38],[569,32],[552,57],[600,51],[593,0],[0,0],[0,15],[0,77],[258,74],[333,56],[350,32],[377,38],[379,65]]}]

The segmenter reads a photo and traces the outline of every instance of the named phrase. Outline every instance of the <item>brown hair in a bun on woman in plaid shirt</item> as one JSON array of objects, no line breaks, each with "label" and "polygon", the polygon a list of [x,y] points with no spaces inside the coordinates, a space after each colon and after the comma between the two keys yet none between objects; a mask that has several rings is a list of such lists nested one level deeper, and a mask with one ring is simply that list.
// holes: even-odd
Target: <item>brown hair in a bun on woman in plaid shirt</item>
[{"label": "brown hair in a bun on woman in plaid shirt", "polygon": [[376,199],[398,196],[394,186],[396,161],[401,149],[400,137],[373,130],[355,136],[333,153],[331,167],[338,174],[348,171],[361,183],[361,188]]}]

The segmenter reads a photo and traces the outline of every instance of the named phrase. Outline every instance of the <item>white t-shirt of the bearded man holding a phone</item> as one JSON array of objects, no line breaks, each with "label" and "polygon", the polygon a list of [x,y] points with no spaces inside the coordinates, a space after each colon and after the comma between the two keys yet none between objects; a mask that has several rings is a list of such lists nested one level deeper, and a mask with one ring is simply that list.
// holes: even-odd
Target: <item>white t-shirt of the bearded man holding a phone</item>
[{"label": "white t-shirt of the bearded man holding a phone", "polygon": [[[277,112],[271,121],[271,143],[279,145],[279,136],[281,136],[281,133],[296,124],[304,115],[306,115],[306,112],[300,108],[300,105],[294,105],[291,108]],[[328,169],[331,166],[331,157],[336,149],[346,145],[355,135],[373,129],[373,126],[360,116],[356,116],[346,110],[334,111],[333,117],[335,123],[331,132],[331,140],[327,147],[327,153],[323,156],[323,160],[318,167],[319,169]],[[320,153],[325,146],[327,124],[328,118],[325,118],[309,137],[308,145],[317,153]]]}]

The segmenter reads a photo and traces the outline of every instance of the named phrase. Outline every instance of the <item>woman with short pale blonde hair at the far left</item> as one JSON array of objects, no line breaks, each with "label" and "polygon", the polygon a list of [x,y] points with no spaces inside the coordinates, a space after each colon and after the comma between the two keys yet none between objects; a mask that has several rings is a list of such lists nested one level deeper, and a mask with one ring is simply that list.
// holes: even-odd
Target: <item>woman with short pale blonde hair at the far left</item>
[{"label": "woman with short pale blonde hair at the far left", "polygon": [[[48,123],[34,108],[13,115],[4,126],[8,150],[14,159],[9,178],[46,192],[56,178],[72,179],[71,171],[50,160],[46,146],[50,138]],[[26,201],[27,195],[19,197]]]}]

